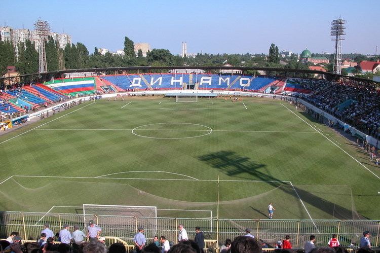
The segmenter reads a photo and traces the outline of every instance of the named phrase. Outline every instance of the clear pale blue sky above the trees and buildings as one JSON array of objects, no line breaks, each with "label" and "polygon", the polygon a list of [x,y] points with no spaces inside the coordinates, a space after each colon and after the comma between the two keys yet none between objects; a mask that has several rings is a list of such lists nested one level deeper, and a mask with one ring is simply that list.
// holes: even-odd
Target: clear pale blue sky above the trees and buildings
[{"label": "clear pale blue sky above the trees and buildings", "polygon": [[271,43],[280,50],[300,53],[333,52],[330,22],[347,20],[343,52],[380,52],[376,1],[121,1],[121,0],[0,0],[0,26],[33,29],[39,17],[52,31],[66,32],[82,42],[111,51],[124,47],[124,37],[152,48],[180,53],[268,53]]}]

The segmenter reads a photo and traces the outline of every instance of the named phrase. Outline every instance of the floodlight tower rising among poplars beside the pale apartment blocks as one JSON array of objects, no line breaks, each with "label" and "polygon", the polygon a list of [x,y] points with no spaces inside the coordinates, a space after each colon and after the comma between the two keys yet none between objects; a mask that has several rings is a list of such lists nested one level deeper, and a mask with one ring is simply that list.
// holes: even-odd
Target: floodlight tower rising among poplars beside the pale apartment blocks
[{"label": "floodlight tower rising among poplars beside the pale apartment blocks", "polygon": [[48,40],[50,35],[50,26],[48,21],[39,19],[34,22],[34,28],[39,37],[39,73],[47,73],[45,41]]}]

